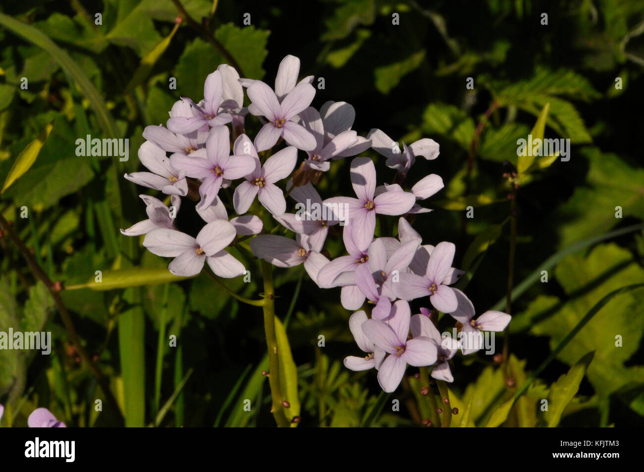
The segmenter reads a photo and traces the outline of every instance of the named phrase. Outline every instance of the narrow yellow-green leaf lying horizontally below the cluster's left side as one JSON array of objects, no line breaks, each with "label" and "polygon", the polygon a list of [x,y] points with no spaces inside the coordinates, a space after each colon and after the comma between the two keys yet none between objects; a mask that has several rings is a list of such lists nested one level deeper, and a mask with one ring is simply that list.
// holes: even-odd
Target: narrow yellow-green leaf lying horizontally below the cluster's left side
[{"label": "narrow yellow-green leaf lying horizontally below the cluster's left side", "polygon": [[97,275],[92,275],[90,281],[79,285],[71,285],[66,290],[90,288],[91,290],[115,290],[117,288],[142,287],[160,283],[178,282],[192,277],[175,276],[167,267],[127,267],[126,269],[104,270],[102,281],[97,281]]}]

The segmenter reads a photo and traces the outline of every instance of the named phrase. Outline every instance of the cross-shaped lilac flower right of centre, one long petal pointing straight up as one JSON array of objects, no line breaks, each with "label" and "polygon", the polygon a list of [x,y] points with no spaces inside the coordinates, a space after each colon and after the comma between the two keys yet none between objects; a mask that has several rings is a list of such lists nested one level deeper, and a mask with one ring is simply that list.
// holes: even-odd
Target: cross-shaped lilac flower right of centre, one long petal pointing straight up
[{"label": "cross-shaped lilac flower right of centre, one long petal pointing straight up", "polygon": [[357,198],[341,196],[328,201],[348,205],[345,231],[352,232],[359,249],[366,249],[374,238],[376,214],[403,214],[416,200],[407,192],[385,192],[374,197],[375,167],[368,157],[357,157],[351,162],[351,184]]}]

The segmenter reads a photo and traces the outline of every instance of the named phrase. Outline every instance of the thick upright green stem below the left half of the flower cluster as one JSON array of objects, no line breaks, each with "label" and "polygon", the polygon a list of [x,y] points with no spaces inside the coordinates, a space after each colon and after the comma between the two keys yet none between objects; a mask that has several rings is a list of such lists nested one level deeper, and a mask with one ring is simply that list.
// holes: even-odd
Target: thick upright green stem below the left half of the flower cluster
[{"label": "thick upright green stem below the left half of the flower cluster", "polygon": [[282,393],[279,385],[279,357],[278,341],[275,335],[275,293],[273,288],[273,270],[267,261],[260,261],[261,276],[264,279],[264,331],[266,334],[266,347],[269,355],[269,384],[270,396],[272,397],[272,406],[270,411],[275,417],[275,421],[281,428],[289,428],[290,423],[284,415],[282,408]]}]

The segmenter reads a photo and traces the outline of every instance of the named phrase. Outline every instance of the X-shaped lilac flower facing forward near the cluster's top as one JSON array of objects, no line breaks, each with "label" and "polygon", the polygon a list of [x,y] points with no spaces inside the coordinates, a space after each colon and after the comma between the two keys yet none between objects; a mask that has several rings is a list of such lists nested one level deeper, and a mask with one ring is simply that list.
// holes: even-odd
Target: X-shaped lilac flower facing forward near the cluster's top
[{"label": "X-shaped lilac flower facing forward near the cluster's top", "polygon": [[310,151],[316,147],[316,138],[303,126],[291,121],[311,104],[316,90],[310,84],[298,84],[281,103],[275,92],[260,80],[253,82],[247,94],[252,100],[252,108],[249,107],[251,113],[269,120],[269,123],[265,124],[255,137],[258,151],[265,151],[275,146],[280,137],[283,137],[290,146],[303,151]]}]

